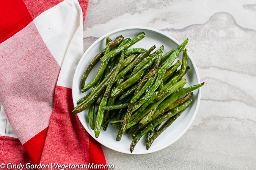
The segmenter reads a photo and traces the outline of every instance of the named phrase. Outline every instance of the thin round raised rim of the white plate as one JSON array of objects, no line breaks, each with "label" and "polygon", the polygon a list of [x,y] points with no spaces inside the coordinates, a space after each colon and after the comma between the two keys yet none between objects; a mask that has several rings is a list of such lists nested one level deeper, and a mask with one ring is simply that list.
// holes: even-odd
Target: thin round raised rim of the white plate
[{"label": "thin round raised rim of the white plate", "polygon": [[[169,39],[171,39],[174,43],[176,43],[177,45],[181,45],[180,42],[178,42],[176,39],[174,39],[172,36],[166,34],[165,32],[162,32],[160,30],[157,30],[157,29],[154,29],[154,28],[150,28],[150,27],[145,27],[145,26],[128,26],[128,27],[123,27],[123,28],[118,28],[118,29],[115,29],[113,31],[110,31],[106,34],[104,34],[103,36],[99,37],[95,42],[93,42],[87,49],[86,51],[83,53],[83,55],[81,56],[80,60],[79,60],[79,63],[77,64],[76,68],[75,68],[75,73],[74,73],[74,77],[73,77],[73,82],[72,82],[72,89],[75,85],[75,77],[77,77],[77,74],[78,73],[78,69],[79,66],[82,64],[82,58],[88,53],[88,51],[90,51],[91,48],[93,48],[93,46],[95,44],[97,44],[98,42],[100,42],[102,39],[104,39],[105,37],[109,36],[109,35],[112,35],[116,32],[120,32],[120,31],[124,31],[124,30],[128,30],[128,29],[141,29],[141,30],[148,30],[148,31],[153,31],[153,32],[157,32],[158,34],[162,34],[163,36],[166,36],[168,37]],[[143,31],[142,31],[143,32]],[[194,60],[192,59],[192,57],[190,56],[189,53],[188,54],[188,57],[190,59],[190,61],[192,62],[192,65],[194,66],[194,69],[195,69],[195,73],[196,73],[196,76],[197,76],[197,82],[200,83],[200,77],[199,77],[199,73],[198,73],[198,70],[197,70],[197,67],[196,67],[196,64],[194,62]],[[74,104],[74,107],[77,106],[76,102],[75,102],[75,97],[74,97],[74,91],[72,90],[72,100],[73,100],[73,104]],[[121,151],[121,150],[118,150],[114,147],[111,147],[109,145],[106,145],[105,143],[99,141],[93,134],[91,134],[91,131],[89,129],[87,129],[88,127],[83,125],[83,121],[81,120],[82,117],[81,117],[81,114],[78,113],[77,116],[79,118],[79,121],[81,122],[81,124],[83,125],[83,128],[85,128],[85,130],[90,134],[91,137],[93,137],[97,142],[99,142],[100,144],[104,145],[105,147],[107,148],[110,148],[114,151],[118,151],[120,153],[126,153],[126,154],[131,154],[131,155],[143,155],[143,154],[148,154],[148,153],[153,153],[155,151],[160,151],[168,146],[170,146],[171,144],[173,144],[174,142],[176,142],[179,138],[181,138],[181,136],[184,135],[184,133],[188,130],[188,128],[191,126],[192,122],[194,121],[195,117],[196,117],[196,114],[198,112],[198,108],[199,108],[199,105],[200,105],[200,100],[201,100],[201,88],[198,88],[198,98],[197,98],[197,101],[196,101],[196,108],[195,108],[195,112],[192,116],[192,118],[190,119],[189,123],[186,125],[186,127],[184,128],[184,130],[182,130],[182,132],[177,135],[176,138],[174,138],[171,142],[169,142],[168,144],[165,144],[163,146],[160,146],[160,147],[157,147],[155,149],[151,149],[151,150],[145,150],[144,152],[141,152],[141,153],[138,153],[138,152],[132,152],[130,153],[129,150],[127,151]]]}]

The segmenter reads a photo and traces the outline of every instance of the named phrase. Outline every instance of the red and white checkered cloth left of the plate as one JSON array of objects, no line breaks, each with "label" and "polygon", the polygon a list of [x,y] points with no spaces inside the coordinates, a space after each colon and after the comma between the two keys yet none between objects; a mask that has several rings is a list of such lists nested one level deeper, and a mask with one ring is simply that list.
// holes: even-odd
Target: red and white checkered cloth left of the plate
[{"label": "red and white checkered cloth left of the plate", "polygon": [[101,145],[71,113],[87,6],[1,0],[0,163],[106,164]]}]

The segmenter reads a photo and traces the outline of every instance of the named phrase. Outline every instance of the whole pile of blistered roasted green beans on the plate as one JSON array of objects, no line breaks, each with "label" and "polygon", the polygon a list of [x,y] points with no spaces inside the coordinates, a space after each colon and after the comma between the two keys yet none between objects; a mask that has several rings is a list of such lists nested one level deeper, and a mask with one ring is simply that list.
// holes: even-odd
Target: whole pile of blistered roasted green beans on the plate
[{"label": "whole pile of blistered roasted green beans on the plate", "polygon": [[[155,45],[149,49],[130,48],[144,37],[141,32],[134,39],[119,36],[112,42],[106,38],[105,49],[93,58],[81,79],[81,92],[91,91],[77,101],[72,111],[77,114],[89,107],[89,124],[96,138],[101,128],[106,131],[109,124],[118,129],[117,141],[125,131],[131,134],[131,152],[144,134],[149,149],[193,102],[192,91],[204,85],[184,87],[183,77],[190,69],[185,49],[188,39],[165,54],[164,46],[156,50]],[[182,51],[182,61],[174,63]],[[96,76],[85,84],[88,74],[100,61]]]}]

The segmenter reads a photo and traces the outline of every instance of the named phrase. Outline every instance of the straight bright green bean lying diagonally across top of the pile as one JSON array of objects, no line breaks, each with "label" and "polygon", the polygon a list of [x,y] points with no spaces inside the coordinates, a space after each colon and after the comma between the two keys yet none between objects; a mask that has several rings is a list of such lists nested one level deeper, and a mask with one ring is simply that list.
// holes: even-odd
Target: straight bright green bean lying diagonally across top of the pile
[{"label": "straight bright green bean lying diagonally across top of the pile", "polygon": [[110,53],[104,55],[101,58],[101,61],[105,62],[106,60],[110,59],[111,57],[116,56],[117,54],[121,53],[121,51],[123,51],[124,49],[127,49],[130,46],[132,46],[133,44],[139,42],[144,37],[145,37],[145,33],[144,32],[140,33],[137,37],[135,37],[134,39],[130,40],[130,42],[128,42],[128,43],[124,44],[123,46],[120,46],[119,48],[116,48],[113,51],[111,51]]}]

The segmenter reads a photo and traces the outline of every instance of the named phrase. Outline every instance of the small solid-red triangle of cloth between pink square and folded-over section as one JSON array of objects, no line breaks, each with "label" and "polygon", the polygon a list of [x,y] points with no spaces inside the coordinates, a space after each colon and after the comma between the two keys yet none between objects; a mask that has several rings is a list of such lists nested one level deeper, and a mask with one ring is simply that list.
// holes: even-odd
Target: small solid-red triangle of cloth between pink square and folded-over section
[{"label": "small solid-red triangle of cloth between pink square and folded-over section", "polygon": [[33,138],[31,138],[30,140],[28,140],[25,144],[23,144],[32,162],[34,162],[35,164],[40,163],[41,154],[44,148],[44,142],[46,140],[47,130],[48,130],[48,127],[45,128],[40,133],[38,133]]}]

